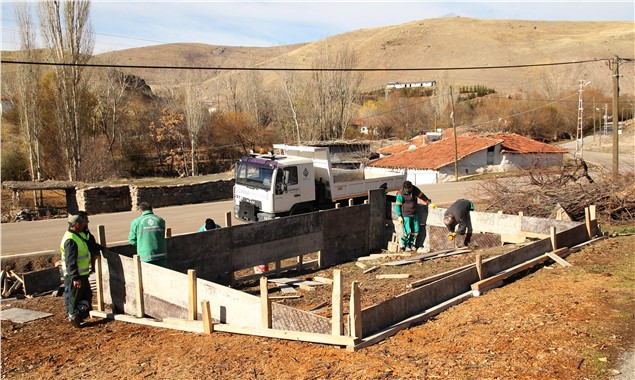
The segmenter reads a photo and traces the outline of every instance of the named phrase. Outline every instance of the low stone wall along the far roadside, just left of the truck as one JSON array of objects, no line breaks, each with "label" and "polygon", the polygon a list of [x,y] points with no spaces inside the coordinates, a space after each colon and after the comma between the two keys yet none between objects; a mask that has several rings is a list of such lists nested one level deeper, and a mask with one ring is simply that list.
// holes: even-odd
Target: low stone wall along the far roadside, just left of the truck
[{"label": "low stone wall along the far roadside, just left of the truck", "polygon": [[205,203],[233,197],[234,180],[171,186],[91,186],[77,190],[77,206],[90,214],[136,210],[141,202],[152,207]]}]

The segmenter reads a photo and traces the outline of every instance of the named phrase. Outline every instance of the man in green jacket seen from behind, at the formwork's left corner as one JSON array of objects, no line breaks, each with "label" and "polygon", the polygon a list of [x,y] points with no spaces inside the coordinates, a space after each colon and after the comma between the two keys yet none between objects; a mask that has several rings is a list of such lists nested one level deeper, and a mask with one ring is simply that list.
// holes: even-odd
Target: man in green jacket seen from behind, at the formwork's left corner
[{"label": "man in green jacket seen from behind, at the formwork's left corner", "polygon": [[168,267],[168,250],[165,242],[165,221],[152,212],[152,206],[147,202],[139,203],[137,207],[141,216],[130,224],[128,241],[137,247],[139,259]]}]

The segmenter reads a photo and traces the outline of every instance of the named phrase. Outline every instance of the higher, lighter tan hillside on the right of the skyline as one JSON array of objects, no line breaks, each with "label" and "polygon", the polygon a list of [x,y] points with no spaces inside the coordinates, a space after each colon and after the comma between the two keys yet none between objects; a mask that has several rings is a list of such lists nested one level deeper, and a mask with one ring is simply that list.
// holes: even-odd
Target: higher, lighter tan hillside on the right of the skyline
[{"label": "higher, lighter tan hillside on the right of the skyline", "polygon": [[[340,34],[289,52],[288,66],[302,67],[324,49],[347,47],[358,67],[448,68],[545,64],[596,58],[635,57],[635,27],[629,22],[553,22],[480,20],[462,17],[429,19]],[[269,65],[280,64],[274,60]],[[623,67],[621,88],[633,91],[633,63]],[[610,90],[606,61],[584,65],[528,69],[398,71],[365,73],[362,87],[387,82],[437,80],[449,84],[484,84],[500,92],[532,91],[545,81],[590,79]]]}]

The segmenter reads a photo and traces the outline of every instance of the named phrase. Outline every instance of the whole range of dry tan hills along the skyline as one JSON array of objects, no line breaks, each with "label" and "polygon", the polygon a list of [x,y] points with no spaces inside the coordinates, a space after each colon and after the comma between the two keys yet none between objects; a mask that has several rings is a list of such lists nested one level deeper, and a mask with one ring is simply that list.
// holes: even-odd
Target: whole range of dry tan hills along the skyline
[{"label": "whole range of dry tan hills along the skyline", "polygon": [[[388,82],[443,81],[449,85],[481,84],[502,93],[577,89],[591,80],[611,92],[609,58],[635,57],[635,27],[631,22],[570,22],[482,20],[463,17],[427,19],[400,25],[360,29],[307,44],[272,48],[205,44],[168,44],[114,51],[98,61],[132,65],[200,67],[310,68],[328,54],[346,49],[355,67],[386,71],[365,72],[361,87],[381,89]],[[602,59],[584,64],[487,69],[495,66],[545,65]],[[328,66],[328,65],[327,65]],[[483,67],[452,70],[439,68]],[[621,67],[621,92],[634,94],[633,62]],[[418,70],[403,70],[416,68]],[[390,71],[398,69],[399,71]],[[437,70],[435,70],[437,69]],[[175,72],[136,73],[151,86],[160,86]],[[208,87],[218,73],[205,72]],[[281,83],[281,71],[263,71],[265,83]]]}]

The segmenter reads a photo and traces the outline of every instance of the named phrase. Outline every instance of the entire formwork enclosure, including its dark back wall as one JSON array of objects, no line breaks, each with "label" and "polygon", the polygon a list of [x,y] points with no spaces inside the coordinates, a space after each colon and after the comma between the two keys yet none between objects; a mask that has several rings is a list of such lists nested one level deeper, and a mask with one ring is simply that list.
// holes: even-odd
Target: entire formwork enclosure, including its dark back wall
[{"label": "entire formwork enclosure, including its dark back wall", "polygon": [[[471,286],[482,277],[497,275],[558,248],[584,243],[598,234],[594,218],[576,223],[472,212],[474,231],[469,245],[500,245],[502,236],[543,238],[485,260],[479,263],[479,268],[473,265],[455,271],[363,310],[359,308],[360,295],[355,293],[353,284],[348,323],[341,321],[341,312],[338,314],[335,309],[333,317],[328,319],[272,303],[267,296],[266,281],[260,297],[227,286],[234,281],[235,271],[263,263],[318,252],[317,265],[324,268],[386,248],[393,234],[400,236],[401,227],[395,223],[394,207],[386,201],[382,190],[370,192],[369,199],[364,205],[168,238],[171,269],[136,263],[134,249],[129,245],[110,247],[101,260],[100,302],[112,305],[116,313],[137,316],[127,318],[128,321],[156,325],[163,320],[174,328],[174,319],[188,320],[188,329],[192,331],[204,329],[207,323],[212,327],[205,331],[216,329],[306,340],[356,350],[471,297]],[[425,239],[422,244],[435,249],[449,245],[442,223],[445,209],[420,207],[418,211],[425,223],[420,234],[420,239]],[[458,239],[449,248],[465,243],[465,239]],[[192,273],[196,276],[194,282]],[[339,304],[341,294],[336,293],[341,290],[334,287],[333,293],[333,304]],[[209,303],[210,316],[198,310],[201,301]],[[102,311],[96,315],[105,316],[101,305],[100,308]],[[148,322],[146,316],[153,320]],[[348,326],[348,331],[338,333],[342,324]]]}]

